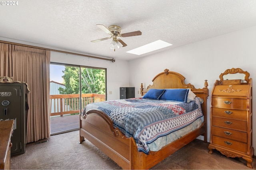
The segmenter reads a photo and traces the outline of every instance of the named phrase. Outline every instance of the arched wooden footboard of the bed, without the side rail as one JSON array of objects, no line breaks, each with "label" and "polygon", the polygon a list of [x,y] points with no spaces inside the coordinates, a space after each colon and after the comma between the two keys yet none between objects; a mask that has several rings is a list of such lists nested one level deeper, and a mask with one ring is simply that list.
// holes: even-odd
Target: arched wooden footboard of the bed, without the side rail
[{"label": "arched wooden footboard of the bed, without the side rail", "polygon": [[86,138],[123,169],[132,169],[132,156],[138,154],[134,139],[114,128],[112,120],[100,110],[90,110],[84,118],[80,117],[80,143]]}]

